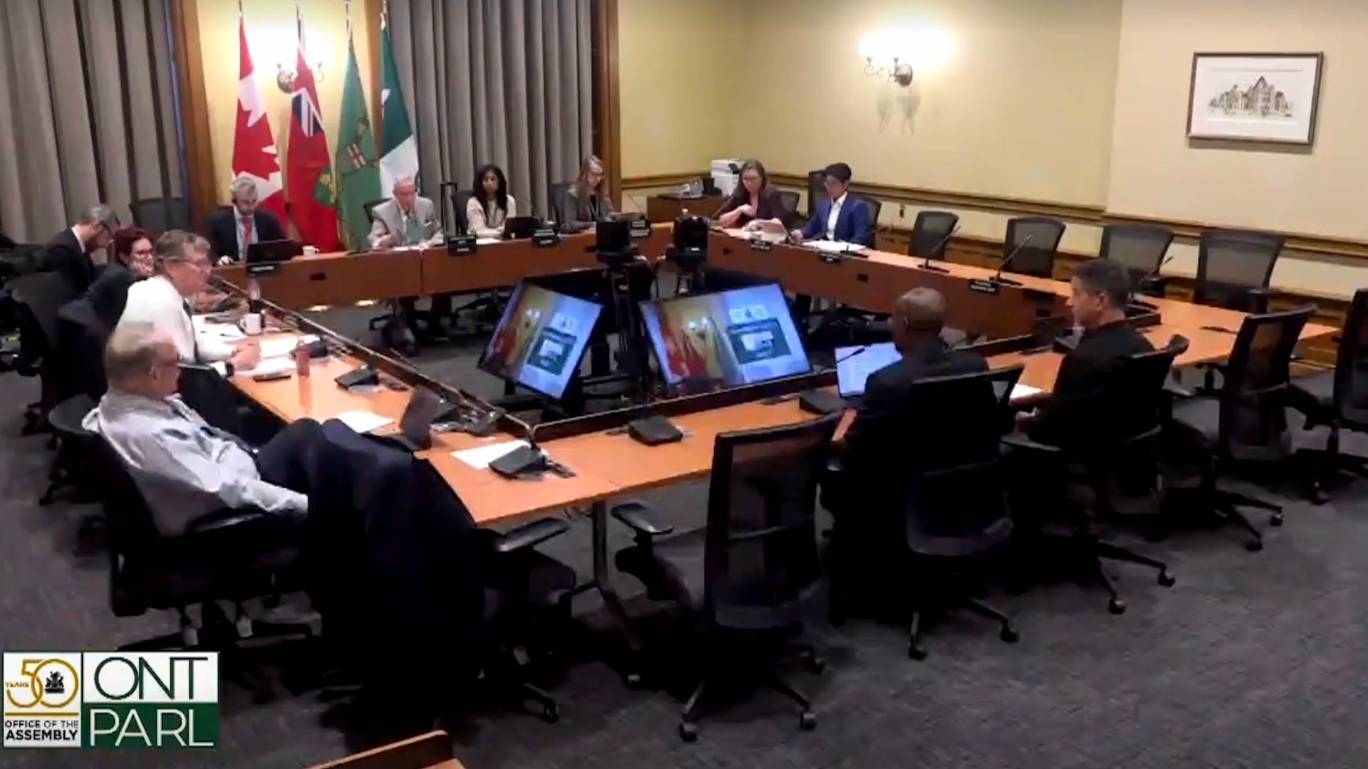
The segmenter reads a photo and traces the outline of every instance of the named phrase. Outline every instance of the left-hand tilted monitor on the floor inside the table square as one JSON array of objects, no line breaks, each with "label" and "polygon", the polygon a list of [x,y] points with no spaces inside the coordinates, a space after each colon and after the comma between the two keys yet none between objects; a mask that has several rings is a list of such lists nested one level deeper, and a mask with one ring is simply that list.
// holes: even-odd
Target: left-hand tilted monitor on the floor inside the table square
[{"label": "left-hand tilted monitor on the floor inside the table square", "polygon": [[560,400],[579,372],[603,308],[532,285],[513,289],[503,317],[480,354],[480,368]]}]

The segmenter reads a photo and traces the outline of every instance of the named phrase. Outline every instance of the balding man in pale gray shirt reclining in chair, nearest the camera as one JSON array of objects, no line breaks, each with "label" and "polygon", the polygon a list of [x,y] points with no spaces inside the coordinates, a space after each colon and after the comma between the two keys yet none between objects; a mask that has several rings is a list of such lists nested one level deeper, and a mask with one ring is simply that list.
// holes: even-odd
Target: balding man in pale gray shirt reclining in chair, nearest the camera
[{"label": "balding man in pale gray shirt reclining in chair, nearest the camera", "polygon": [[260,508],[298,525],[306,495],[263,479],[285,478],[291,461],[319,434],[301,420],[253,454],[230,432],[209,427],[176,395],[179,354],[170,331],[120,323],[105,348],[109,390],[86,415],[123,461],[161,534],[185,532],[194,519],[223,508]]}]

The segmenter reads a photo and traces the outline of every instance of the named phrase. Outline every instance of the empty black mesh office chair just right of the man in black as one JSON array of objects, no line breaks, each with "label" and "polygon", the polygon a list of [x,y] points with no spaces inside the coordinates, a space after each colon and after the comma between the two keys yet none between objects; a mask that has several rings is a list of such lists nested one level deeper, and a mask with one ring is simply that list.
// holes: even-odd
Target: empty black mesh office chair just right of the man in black
[{"label": "empty black mesh office chair just right of the man in black", "polygon": [[1263,534],[1238,508],[1270,510],[1270,523],[1282,525],[1282,506],[1219,488],[1218,480],[1234,462],[1274,462],[1287,456],[1289,363],[1313,311],[1309,305],[1245,316],[1219,394],[1174,404],[1176,438],[1198,450],[1202,468],[1197,487],[1171,488],[1170,497],[1194,498],[1198,509],[1239,524],[1250,534],[1245,546],[1250,551],[1263,550]]}]

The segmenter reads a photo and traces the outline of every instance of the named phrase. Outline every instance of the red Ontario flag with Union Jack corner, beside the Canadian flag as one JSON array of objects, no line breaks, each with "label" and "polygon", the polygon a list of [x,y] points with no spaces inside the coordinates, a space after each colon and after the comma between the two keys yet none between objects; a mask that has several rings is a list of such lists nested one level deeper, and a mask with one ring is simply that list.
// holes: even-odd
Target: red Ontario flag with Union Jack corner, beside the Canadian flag
[{"label": "red Ontario flag with Union Jack corner, beside the Canadian flag", "polygon": [[304,18],[298,18],[300,49],[290,94],[290,155],[286,161],[290,215],[300,238],[320,252],[341,250],[332,157],[323,133],[323,109],[313,71],[304,56]]}]

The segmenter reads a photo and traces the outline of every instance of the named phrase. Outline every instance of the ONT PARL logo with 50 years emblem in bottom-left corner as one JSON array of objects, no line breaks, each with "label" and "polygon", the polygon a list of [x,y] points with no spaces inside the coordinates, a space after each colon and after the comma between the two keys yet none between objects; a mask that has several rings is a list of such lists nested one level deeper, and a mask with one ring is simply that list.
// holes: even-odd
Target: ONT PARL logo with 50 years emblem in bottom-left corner
[{"label": "ONT PARL logo with 50 years emblem in bottom-left corner", "polygon": [[4,653],[4,747],[219,746],[211,651]]}]

